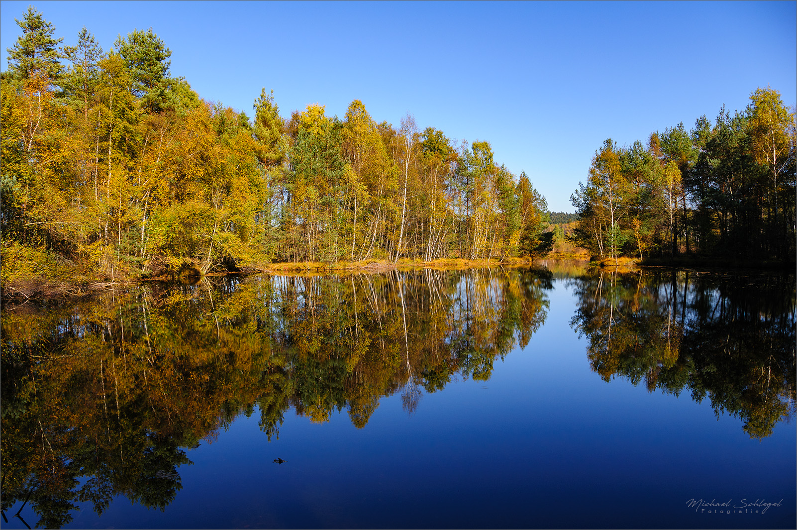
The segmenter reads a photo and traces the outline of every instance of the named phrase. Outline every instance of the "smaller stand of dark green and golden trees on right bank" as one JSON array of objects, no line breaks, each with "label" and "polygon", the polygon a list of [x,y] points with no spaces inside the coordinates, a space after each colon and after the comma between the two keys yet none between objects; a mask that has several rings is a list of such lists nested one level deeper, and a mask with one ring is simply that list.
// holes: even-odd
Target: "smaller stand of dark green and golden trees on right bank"
[{"label": "smaller stand of dark green and golden trees on right bank", "polygon": [[724,107],[619,147],[595,152],[571,196],[575,241],[593,256],[795,259],[795,113],[772,88],[744,111]]}]

